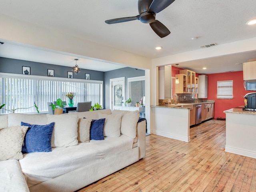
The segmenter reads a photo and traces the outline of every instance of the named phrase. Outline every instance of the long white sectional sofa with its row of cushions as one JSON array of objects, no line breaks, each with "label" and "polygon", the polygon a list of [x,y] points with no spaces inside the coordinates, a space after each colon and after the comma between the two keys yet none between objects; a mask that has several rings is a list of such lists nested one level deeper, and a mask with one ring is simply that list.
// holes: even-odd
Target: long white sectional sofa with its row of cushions
[{"label": "long white sectional sofa with its row of cushions", "polygon": [[[4,128],[5,132],[25,128],[22,150],[25,146],[26,150],[30,150],[24,154],[16,152],[8,160],[0,154],[0,191],[73,192],[140,160],[146,151],[146,121],[138,122],[138,119],[138,111],[111,112],[110,109],[61,115],[0,115],[0,129]],[[47,126],[54,122],[51,140],[48,141],[51,152],[31,152],[33,148],[37,150],[41,142],[37,140],[40,136],[33,134],[40,133],[36,128],[42,127],[20,126],[21,122]],[[103,140],[95,140],[98,135],[102,139],[102,128]],[[13,144],[8,138],[10,134],[2,130],[0,139],[7,139],[2,139],[2,143],[0,141],[0,152],[1,148],[6,150],[6,143]],[[7,156],[10,155],[8,152],[9,149]]]}]

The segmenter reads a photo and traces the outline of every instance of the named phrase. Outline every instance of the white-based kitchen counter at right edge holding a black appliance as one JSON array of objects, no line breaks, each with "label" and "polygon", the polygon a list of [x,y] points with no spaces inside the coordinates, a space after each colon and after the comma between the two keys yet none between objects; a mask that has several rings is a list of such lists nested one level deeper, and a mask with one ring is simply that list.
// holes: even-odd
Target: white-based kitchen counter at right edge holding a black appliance
[{"label": "white-based kitchen counter at right edge holding a black appliance", "polygon": [[242,107],[226,113],[225,151],[256,158],[256,111],[243,111]]}]

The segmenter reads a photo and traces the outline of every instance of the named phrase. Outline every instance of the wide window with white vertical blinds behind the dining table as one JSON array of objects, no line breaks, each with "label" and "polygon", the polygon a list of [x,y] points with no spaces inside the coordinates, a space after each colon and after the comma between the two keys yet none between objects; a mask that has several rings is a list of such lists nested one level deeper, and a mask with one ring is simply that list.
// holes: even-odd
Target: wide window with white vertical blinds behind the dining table
[{"label": "wide window with white vertical blinds behind the dining table", "polygon": [[[61,98],[67,101],[68,92],[74,92],[74,103],[92,101],[103,106],[103,81],[52,78],[32,75],[0,73],[1,105],[8,110],[38,106],[40,112],[48,111],[47,102]],[[33,113],[36,108],[19,109],[18,113]],[[2,109],[1,114],[9,113]]]}]

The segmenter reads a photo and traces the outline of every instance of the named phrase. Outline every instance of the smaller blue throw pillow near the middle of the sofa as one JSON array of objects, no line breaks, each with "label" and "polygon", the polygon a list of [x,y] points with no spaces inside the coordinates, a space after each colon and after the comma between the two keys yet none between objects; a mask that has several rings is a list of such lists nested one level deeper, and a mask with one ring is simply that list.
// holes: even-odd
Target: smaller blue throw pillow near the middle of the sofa
[{"label": "smaller blue throw pillow near the middle of the sofa", "polygon": [[92,120],[90,128],[90,139],[93,140],[104,140],[103,128],[104,128],[105,118]]}]

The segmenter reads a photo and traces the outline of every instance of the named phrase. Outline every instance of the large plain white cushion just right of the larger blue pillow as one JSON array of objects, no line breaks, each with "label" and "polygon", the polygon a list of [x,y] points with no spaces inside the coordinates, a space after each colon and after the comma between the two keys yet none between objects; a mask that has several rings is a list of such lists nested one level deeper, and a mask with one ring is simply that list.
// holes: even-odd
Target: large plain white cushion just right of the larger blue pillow
[{"label": "large plain white cushion just right of the larger blue pillow", "polygon": [[76,115],[49,115],[46,114],[47,124],[54,122],[52,132],[52,147],[69,147],[78,144]]}]

